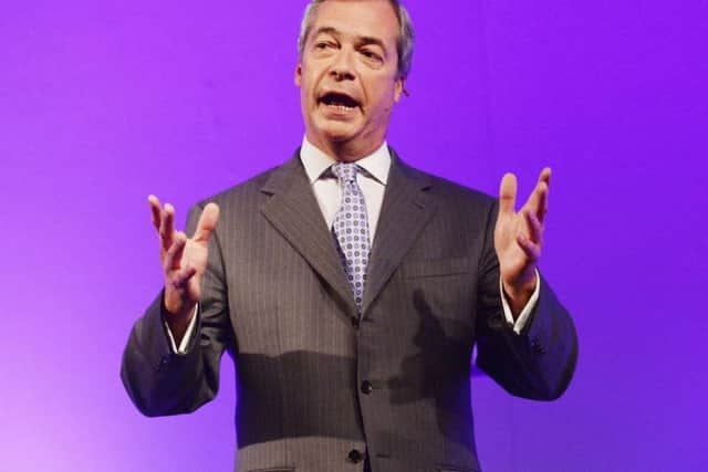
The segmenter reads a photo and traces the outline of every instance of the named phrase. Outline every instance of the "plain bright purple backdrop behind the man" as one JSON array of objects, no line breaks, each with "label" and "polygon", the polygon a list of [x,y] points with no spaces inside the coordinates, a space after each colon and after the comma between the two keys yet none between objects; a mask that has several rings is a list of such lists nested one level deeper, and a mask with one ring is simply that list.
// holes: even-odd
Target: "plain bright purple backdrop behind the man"
[{"label": "plain bright purple backdrop behind the man", "polygon": [[[299,145],[303,6],[3,4],[0,469],[231,469],[230,360],[214,402],[160,419],[132,406],[119,360],[160,289],[147,195],[181,222]],[[476,377],[482,465],[705,468],[708,3],[408,7],[412,97],[389,143],[489,192],[507,170],[523,197],[554,171],[542,270],[574,315],[577,370],[552,403]]]}]

